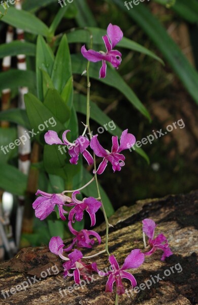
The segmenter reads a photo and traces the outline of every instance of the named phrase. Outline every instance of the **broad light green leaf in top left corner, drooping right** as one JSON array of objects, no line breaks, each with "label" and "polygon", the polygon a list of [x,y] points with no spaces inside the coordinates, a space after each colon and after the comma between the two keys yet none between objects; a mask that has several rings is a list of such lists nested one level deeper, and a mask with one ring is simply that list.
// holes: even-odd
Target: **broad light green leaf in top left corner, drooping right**
[{"label": "broad light green leaf in top left corner, drooping right", "polygon": [[17,28],[23,29],[25,32],[50,36],[49,28],[45,23],[43,23],[39,18],[35,15],[17,10],[13,7],[10,7],[7,11],[7,14],[2,18],[2,21],[8,23]]}]

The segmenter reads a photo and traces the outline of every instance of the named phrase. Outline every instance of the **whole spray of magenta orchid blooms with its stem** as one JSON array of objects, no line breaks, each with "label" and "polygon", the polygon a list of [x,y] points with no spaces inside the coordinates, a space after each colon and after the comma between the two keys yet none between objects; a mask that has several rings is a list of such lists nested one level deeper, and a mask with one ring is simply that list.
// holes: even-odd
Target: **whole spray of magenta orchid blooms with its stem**
[{"label": "whole spray of magenta orchid blooms with its stem", "polygon": [[[152,249],[143,253],[140,249],[133,249],[126,256],[122,267],[119,267],[119,264],[116,260],[116,257],[113,254],[110,254],[108,247],[108,238],[109,238],[109,224],[103,200],[101,198],[100,188],[98,186],[97,175],[103,174],[108,163],[112,165],[114,172],[120,171],[122,166],[124,166],[124,155],[120,154],[121,151],[130,148],[136,142],[136,138],[133,134],[128,133],[128,130],[124,130],[120,137],[120,143],[118,143],[118,137],[112,137],[112,148],[111,151],[102,147],[100,142],[97,139],[97,135],[93,135],[90,131],[89,126],[89,116],[90,116],[90,78],[89,78],[89,66],[90,62],[98,62],[102,60],[102,68],[100,70],[100,77],[106,77],[107,63],[118,69],[121,63],[121,53],[113,48],[119,43],[122,39],[123,33],[119,26],[109,24],[107,28],[107,35],[103,36],[103,41],[105,43],[107,51],[94,51],[92,49],[86,50],[85,46],[82,46],[81,53],[88,60],[87,68],[84,73],[86,73],[87,78],[87,105],[86,105],[86,124],[85,130],[81,136],[79,136],[74,143],[71,143],[67,139],[67,134],[70,130],[64,131],[62,135],[62,140],[58,137],[57,133],[54,131],[48,131],[45,134],[45,141],[47,144],[60,144],[69,146],[69,155],[71,157],[70,163],[74,166],[78,163],[79,155],[81,154],[89,165],[93,164],[93,178],[83,187],[77,190],[65,190],[59,194],[49,194],[38,190],[36,195],[41,195],[38,197],[35,202],[32,204],[35,209],[35,215],[40,220],[47,218],[53,211],[54,207],[58,207],[59,216],[61,220],[65,221],[68,217],[68,227],[71,233],[75,236],[70,246],[65,247],[63,240],[59,236],[53,236],[49,242],[49,249],[55,255],[58,255],[63,261],[63,277],[74,277],[76,284],[79,284],[81,277],[83,279],[89,278],[92,272],[97,272],[100,275],[100,270],[97,267],[96,262],[91,264],[86,264],[83,262],[83,259],[92,259],[98,255],[106,255],[109,258],[111,264],[111,271],[108,271],[104,276],[108,276],[105,292],[113,292],[113,285],[116,286],[116,296],[115,296],[115,305],[118,304],[119,295],[125,292],[122,279],[129,280],[132,287],[137,285],[136,279],[130,272],[126,271],[127,269],[137,268],[141,266],[144,262],[145,256],[149,256],[154,253],[157,249],[163,251],[162,259],[170,256],[172,254],[166,237],[163,234],[159,234],[154,239],[154,229],[155,223],[152,220],[143,220],[143,231],[149,237],[149,246]],[[91,47],[92,47],[92,35],[90,37]],[[83,74],[84,74],[83,73]],[[90,140],[87,139],[84,134],[88,130],[90,135]],[[92,155],[87,149],[92,150]],[[96,156],[103,158],[100,165],[96,169]],[[88,197],[79,200],[77,197],[80,194],[80,191],[86,188],[90,183],[95,181],[97,188],[97,198]],[[72,196],[69,196],[69,193],[72,193]],[[65,195],[67,194],[67,195]],[[70,209],[71,207],[71,209]],[[101,252],[98,252],[91,256],[83,256],[83,253],[75,248],[92,248],[95,240],[100,244],[101,237],[94,230],[82,229],[77,231],[73,228],[73,223],[75,221],[81,221],[84,217],[85,212],[88,213],[90,217],[91,227],[96,223],[95,213],[98,209],[102,208],[105,222],[106,222],[106,240],[105,240],[105,249]],[[70,210],[70,211],[69,211]],[[92,236],[92,238],[90,238]],[[144,238],[145,240],[145,238]]]}]

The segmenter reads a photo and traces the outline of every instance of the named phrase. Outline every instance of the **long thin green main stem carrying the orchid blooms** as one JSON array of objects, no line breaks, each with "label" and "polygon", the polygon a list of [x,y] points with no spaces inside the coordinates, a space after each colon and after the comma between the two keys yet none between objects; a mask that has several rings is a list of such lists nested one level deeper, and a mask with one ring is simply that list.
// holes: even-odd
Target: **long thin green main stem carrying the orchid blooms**
[{"label": "long thin green main stem carrying the orchid blooms", "polygon": [[[91,42],[91,45],[92,45],[92,42]],[[90,79],[89,79],[89,65],[90,65],[90,62],[87,63],[87,111],[86,111],[86,126],[87,126],[87,128],[88,128],[89,135],[90,135],[90,139],[91,139],[92,136],[91,136],[90,127],[89,127],[89,116],[90,116],[90,86],[91,86]],[[93,153],[93,160],[94,160],[94,170],[96,171],[96,162],[95,162],[95,154],[94,154],[94,153]],[[98,197],[101,198],[101,193],[100,193],[100,189],[99,189],[99,186],[98,186],[97,174],[96,174],[96,173],[94,174],[94,177],[95,177],[95,183],[96,183],[96,187],[97,187],[97,194],[98,194]],[[105,249],[106,249],[107,254],[110,256],[110,253],[109,253],[109,250],[108,250],[109,222],[108,222],[107,214],[106,214],[105,207],[104,207],[104,205],[103,205],[102,199],[101,199],[101,203],[102,203],[103,214],[104,214],[105,222],[106,222],[106,242],[105,242]]]}]

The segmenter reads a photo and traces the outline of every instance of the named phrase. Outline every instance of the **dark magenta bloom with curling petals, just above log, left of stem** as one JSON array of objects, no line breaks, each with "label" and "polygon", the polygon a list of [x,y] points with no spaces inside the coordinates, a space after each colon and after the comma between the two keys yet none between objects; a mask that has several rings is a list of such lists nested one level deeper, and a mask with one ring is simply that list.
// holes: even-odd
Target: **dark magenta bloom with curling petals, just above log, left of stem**
[{"label": "dark magenta bloom with curling petals, just above log, left of stem", "polygon": [[72,227],[72,222],[71,221],[69,221],[68,227],[70,229],[70,232],[72,234],[76,235],[76,237],[73,239],[72,244],[67,249],[64,249],[63,251],[72,250],[75,243],[76,243],[77,247],[79,247],[79,248],[92,248],[92,246],[94,244],[94,239],[93,238],[90,239],[89,235],[95,236],[98,240],[99,245],[100,245],[101,236],[98,233],[96,233],[95,231],[83,229],[80,232],[78,232]]}]

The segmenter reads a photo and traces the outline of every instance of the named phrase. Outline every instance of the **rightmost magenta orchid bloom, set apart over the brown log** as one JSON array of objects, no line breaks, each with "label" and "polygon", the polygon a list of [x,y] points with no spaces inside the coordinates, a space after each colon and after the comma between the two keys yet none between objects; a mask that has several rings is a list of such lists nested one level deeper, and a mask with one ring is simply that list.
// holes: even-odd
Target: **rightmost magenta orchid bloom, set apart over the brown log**
[{"label": "rightmost magenta orchid bloom, set apart over the brown log", "polygon": [[156,224],[152,219],[144,219],[142,221],[143,223],[143,232],[149,237],[148,244],[151,246],[151,250],[149,252],[144,253],[145,255],[151,255],[153,254],[157,249],[160,249],[163,251],[161,260],[163,261],[166,257],[169,257],[173,254],[171,252],[171,249],[169,247],[168,240],[166,236],[164,236],[162,233],[158,234],[157,237],[154,238],[154,232],[156,228]]}]

